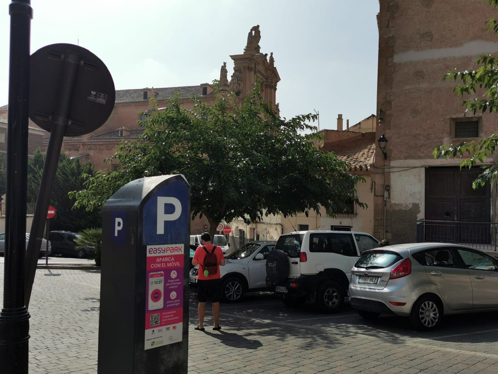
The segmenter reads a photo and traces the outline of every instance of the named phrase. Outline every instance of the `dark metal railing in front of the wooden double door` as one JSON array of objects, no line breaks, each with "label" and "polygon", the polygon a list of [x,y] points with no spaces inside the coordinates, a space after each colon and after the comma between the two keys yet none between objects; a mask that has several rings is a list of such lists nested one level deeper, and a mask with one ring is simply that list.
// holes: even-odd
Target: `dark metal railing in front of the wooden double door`
[{"label": "dark metal railing in front of the wooden double door", "polygon": [[497,251],[498,222],[417,219],[417,242],[443,242]]}]

